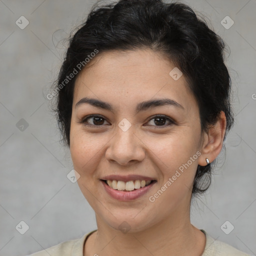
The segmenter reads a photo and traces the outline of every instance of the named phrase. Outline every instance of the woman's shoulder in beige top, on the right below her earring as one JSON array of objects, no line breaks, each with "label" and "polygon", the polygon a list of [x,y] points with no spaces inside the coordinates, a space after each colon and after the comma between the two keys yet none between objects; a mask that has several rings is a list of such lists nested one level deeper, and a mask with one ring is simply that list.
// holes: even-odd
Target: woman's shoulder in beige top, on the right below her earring
[{"label": "woman's shoulder in beige top, on the right below her earring", "polygon": [[202,231],[206,236],[206,244],[202,256],[250,256],[225,242],[215,240],[204,230]]}]

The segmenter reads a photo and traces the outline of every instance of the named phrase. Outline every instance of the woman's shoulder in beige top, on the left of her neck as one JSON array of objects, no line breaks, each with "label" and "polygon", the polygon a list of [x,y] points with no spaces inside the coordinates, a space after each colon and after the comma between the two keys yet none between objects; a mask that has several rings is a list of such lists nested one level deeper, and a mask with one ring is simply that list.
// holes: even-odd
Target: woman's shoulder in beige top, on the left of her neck
[{"label": "woman's shoulder in beige top, on the left of her neck", "polygon": [[[92,231],[93,232],[93,231]],[[34,252],[26,256],[76,256],[82,255],[83,244],[86,237],[90,234],[86,233],[78,239],[63,241],[49,248]]]}]

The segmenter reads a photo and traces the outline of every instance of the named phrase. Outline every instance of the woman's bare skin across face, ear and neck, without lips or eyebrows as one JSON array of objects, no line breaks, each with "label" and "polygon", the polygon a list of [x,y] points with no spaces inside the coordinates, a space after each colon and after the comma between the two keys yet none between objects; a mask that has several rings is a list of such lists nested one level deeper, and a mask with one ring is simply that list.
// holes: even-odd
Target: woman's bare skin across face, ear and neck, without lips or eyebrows
[{"label": "woman's bare skin across face, ear and neck, without lips or eyebrows", "polygon": [[[207,133],[201,131],[198,105],[184,75],[178,80],[169,75],[174,67],[150,49],[108,51],[98,53],[76,79],[70,153],[80,175],[77,183],[97,222],[97,231],[84,244],[84,256],[198,256],[204,250],[204,234],[190,223],[192,184],[197,164],[206,165],[206,157],[211,162],[219,154],[226,120],[221,112]],[[111,104],[113,111],[88,103],[75,107],[85,96]],[[135,111],[137,103],[156,98],[173,99],[184,109],[163,105]],[[79,123],[91,114],[103,119]],[[163,126],[155,123],[156,114],[166,116]],[[123,118],[131,123],[127,131],[118,127]],[[167,118],[175,122],[167,125]],[[197,151],[200,156],[150,202],[148,197]],[[135,200],[118,201],[105,192],[99,180],[109,174],[140,174],[157,182]],[[129,224],[127,233],[119,229],[123,221]]]}]

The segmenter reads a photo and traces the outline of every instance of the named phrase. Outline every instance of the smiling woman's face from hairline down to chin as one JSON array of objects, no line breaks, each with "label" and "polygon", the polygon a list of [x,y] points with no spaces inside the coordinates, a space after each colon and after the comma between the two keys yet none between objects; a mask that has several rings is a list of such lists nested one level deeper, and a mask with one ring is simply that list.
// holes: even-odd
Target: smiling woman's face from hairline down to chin
[{"label": "smiling woman's face from hairline down to chin", "polygon": [[76,79],[70,127],[77,182],[97,223],[141,231],[184,219],[202,145],[184,75],[149,49],[99,54]]}]

